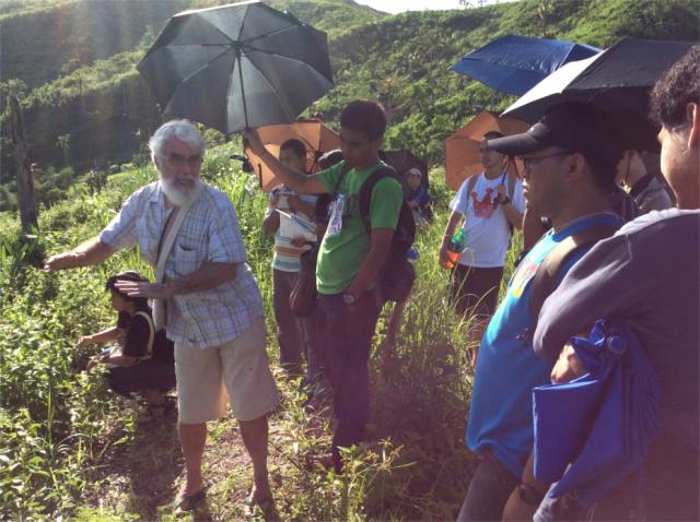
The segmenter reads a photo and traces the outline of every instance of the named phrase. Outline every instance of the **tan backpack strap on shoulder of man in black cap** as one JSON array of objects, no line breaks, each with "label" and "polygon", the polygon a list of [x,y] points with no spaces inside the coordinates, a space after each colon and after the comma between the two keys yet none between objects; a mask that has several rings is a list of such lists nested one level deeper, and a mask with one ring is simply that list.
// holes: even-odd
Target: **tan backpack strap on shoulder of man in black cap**
[{"label": "tan backpack strap on shoulder of man in black cap", "polygon": [[586,227],[562,240],[545,257],[533,277],[533,290],[529,296],[529,309],[535,322],[545,299],[557,288],[561,269],[567,265],[571,257],[581,249],[612,236],[616,232],[616,226],[607,224]]}]

